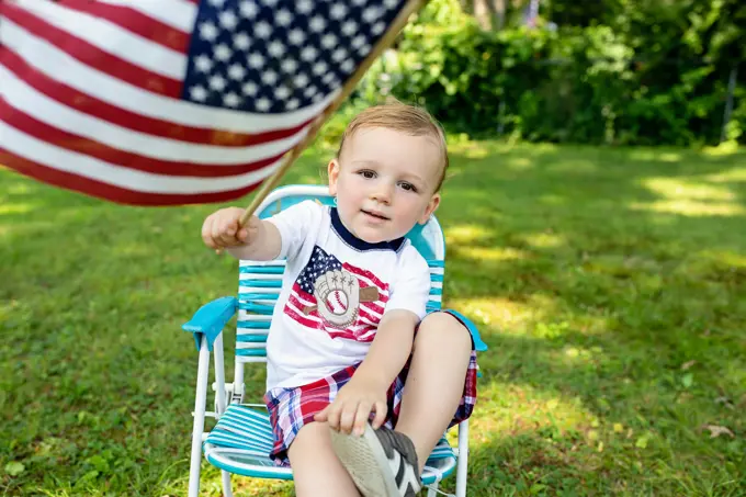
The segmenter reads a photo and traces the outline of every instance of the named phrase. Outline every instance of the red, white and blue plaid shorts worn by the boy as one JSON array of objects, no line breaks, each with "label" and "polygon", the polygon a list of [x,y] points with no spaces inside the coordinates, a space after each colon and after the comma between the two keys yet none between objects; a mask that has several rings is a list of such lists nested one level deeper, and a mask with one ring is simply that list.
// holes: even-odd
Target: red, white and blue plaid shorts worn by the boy
[{"label": "red, white and blue plaid shorts worn by the boy", "polygon": [[[448,310],[443,310],[448,313]],[[449,313],[451,314],[451,313]],[[461,320],[461,316],[451,314]],[[316,413],[319,413],[331,404],[337,397],[339,388],[350,381],[360,363],[338,371],[331,376],[318,380],[307,385],[293,388],[272,388],[264,394],[264,403],[269,409],[272,432],[274,434],[274,447],[270,458],[279,465],[289,465],[287,448],[293,443],[301,428],[314,420]],[[402,408],[402,395],[404,385],[409,372],[409,361],[405,364],[399,375],[394,380],[386,394],[388,409],[386,411],[386,426],[394,428],[399,417]],[[474,410],[476,404],[476,350],[472,341],[472,355],[468,360],[466,379],[464,382],[464,393],[456,408],[449,428],[467,419]]]}]

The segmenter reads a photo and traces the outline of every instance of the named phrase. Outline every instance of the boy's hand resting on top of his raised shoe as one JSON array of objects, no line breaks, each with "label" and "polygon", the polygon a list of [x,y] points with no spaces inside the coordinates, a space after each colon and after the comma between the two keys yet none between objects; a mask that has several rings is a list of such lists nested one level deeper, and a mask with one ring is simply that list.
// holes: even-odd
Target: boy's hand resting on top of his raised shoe
[{"label": "boy's hand resting on top of his raised shoe", "polygon": [[343,433],[363,434],[371,413],[375,418],[373,429],[381,427],[386,420],[386,388],[375,382],[353,376],[347,385],[339,389],[335,402],[314,416],[318,422],[327,421],[329,426]]}]

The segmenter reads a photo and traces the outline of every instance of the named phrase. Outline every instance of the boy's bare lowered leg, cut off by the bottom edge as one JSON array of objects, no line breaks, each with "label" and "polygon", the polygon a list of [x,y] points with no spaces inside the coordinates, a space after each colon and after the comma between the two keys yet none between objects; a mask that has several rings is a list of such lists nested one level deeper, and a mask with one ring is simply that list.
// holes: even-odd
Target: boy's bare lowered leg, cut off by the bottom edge
[{"label": "boy's bare lowered leg, cut off by the bottom edge", "polygon": [[360,497],[350,474],[331,450],[326,422],[304,425],[287,450],[297,497]]}]

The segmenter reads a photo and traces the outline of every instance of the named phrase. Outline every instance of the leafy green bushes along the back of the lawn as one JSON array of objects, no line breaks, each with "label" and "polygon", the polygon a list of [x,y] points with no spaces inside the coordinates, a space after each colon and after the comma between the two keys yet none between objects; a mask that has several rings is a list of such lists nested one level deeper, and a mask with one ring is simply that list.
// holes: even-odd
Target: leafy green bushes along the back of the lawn
[{"label": "leafy green bushes along the back of the lawn", "polygon": [[[358,95],[365,102],[389,94],[418,102],[453,132],[476,136],[716,143],[728,76],[746,42],[739,21],[723,16],[746,21],[746,8],[715,0],[620,0],[604,12],[581,26],[493,32],[457,2],[433,1],[405,30],[397,50],[371,69]],[[745,74],[742,68],[742,81]],[[744,89],[742,83],[737,95]],[[744,139],[743,104],[736,105],[727,135]]]}]

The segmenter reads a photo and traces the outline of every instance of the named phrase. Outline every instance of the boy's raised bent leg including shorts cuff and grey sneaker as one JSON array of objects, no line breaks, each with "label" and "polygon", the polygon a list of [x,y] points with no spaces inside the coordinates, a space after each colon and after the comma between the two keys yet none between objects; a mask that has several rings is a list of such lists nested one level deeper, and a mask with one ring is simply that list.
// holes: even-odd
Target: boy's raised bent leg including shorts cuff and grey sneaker
[{"label": "boy's raised bent leg including shorts cuff and grey sneaker", "polygon": [[362,437],[331,433],[335,452],[365,497],[415,497],[438,440],[471,414],[475,371],[468,329],[453,315],[437,313],[422,320],[415,337],[406,379],[399,376],[389,391],[394,399],[402,393],[395,430],[368,425]]}]

